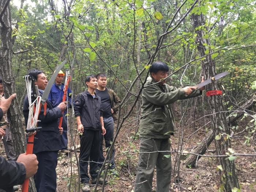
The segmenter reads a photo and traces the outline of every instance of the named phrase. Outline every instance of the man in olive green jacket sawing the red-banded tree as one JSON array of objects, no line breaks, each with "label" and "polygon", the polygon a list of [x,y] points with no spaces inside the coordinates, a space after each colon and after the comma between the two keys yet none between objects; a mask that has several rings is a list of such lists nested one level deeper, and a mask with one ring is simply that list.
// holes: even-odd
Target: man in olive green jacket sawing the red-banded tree
[{"label": "man in olive green jacket sawing the red-banded tree", "polygon": [[[135,181],[135,192],[152,190],[154,168],[157,168],[157,192],[169,192],[172,162],[169,138],[174,133],[171,103],[202,94],[195,87],[177,89],[165,84],[169,67],[154,62],[142,90],[142,113],[140,120],[140,154]],[[161,81],[162,80],[162,81]],[[161,81],[161,82],[160,82]],[[204,81],[202,79],[202,81]]]}]

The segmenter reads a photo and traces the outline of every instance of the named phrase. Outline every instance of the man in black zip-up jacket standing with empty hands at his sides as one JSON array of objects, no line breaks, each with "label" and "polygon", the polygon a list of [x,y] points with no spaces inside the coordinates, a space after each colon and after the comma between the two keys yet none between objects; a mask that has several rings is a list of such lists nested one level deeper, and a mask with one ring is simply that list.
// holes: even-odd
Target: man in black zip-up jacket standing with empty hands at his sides
[{"label": "man in black zip-up jacket standing with empty hands at his sides", "polygon": [[[83,192],[90,192],[88,162],[90,158],[90,175],[95,184],[98,177],[98,158],[100,151],[100,137],[105,135],[102,117],[101,98],[95,94],[98,87],[97,78],[90,75],[86,78],[88,90],[80,93],[75,99],[74,111],[78,132],[80,133],[79,168]],[[102,133],[101,133],[102,132]],[[102,184],[102,178],[99,183]]]}]

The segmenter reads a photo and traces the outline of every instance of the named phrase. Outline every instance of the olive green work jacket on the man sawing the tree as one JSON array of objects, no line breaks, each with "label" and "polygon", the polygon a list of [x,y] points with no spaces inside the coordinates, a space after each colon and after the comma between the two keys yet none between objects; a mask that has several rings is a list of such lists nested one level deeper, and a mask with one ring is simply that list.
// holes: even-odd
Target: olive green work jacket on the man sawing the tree
[{"label": "olive green work jacket on the man sawing the tree", "polygon": [[[174,133],[171,103],[202,95],[202,91],[193,90],[188,96],[183,89],[160,85],[154,79],[148,78],[142,90],[142,113],[140,119],[140,137],[165,139]],[[152,86],[146,87],[150,84]]]}]

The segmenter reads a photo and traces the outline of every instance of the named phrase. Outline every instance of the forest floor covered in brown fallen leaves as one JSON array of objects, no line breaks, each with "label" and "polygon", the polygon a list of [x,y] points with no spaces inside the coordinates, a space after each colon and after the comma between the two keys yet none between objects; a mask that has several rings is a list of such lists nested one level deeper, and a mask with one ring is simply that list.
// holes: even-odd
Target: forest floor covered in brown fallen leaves
[{"label": "forest floor covered in brown fallen leaves", "polygon": [[[196,124],[196,127],[200,127]],[[188,136],[193,132],[189,128],[189,125],[184,125],[184,141],[187,140]],[[243,127],[243,126],[240,126]],[[135,183],[136,167],[138,165],[138,150],[139,150],[139,136],[136,131],[138,126],[136,122],[126,124],[120,131],[117,142],[115,144],[116,149],[116,170],[118,176],[113,176],[108,173],[107,180],[108,184],[105,185],[106,192],[132,192],[133,184]],[[242,128],[241,128],[242,130]],[[237,132],[241,131],[237,130]],[[198,133],[194,134],[187,142],[184,150],[191,152],[193,148],[204,138],[205,130],[202,129]],[[76,144],[79,141],[76,139]],[[172,149],[177,149],[178,144],[178,133],[171,137]],[[236,153],[255,153],[256,146],[254,143],[244,144],[245,137],[244,133],[235,136],[231,140],[232,148]],[[0,152],[4,156],[4,147],[1,142]],[[209,147],[209,151],[214,150],[214,142]],[[0,153],[1,154],[1,153]],[[77,153],[79,155],[79,153]],[[129,155],[130,154],[130,155]],[[132,155],[131,155],[132,154]],[[214,155],[212,152],[206,153],[207,155]],[[176,154],[172,154],[172,165],[175,165]],[[59,153],[57,165],[57,191],[67,192],[78,191],[78,166],[76,165],[76,158],[74,152],[66,156],[63,153]],[[72,161],[72,163],[70,163]],[[256,192],[256,158],[255,157],[243,157],[240,156],[234,160],[236,164],[238,180],[240,182],[241,191]],[[216,158],[202,157],[197,162],[195,168],[187,168],[182,163],[180,166],[180,182],[172,181],[170,183],[170,191],[218,191],[219,185],[219,173],[217,171],[218,162]],[[71,174],[72,173],[72,174]],[[72,179],[70,179],[72,178]],[[82,187],[82,185],[81,185]],[[91,191],[94,186],[91,185]],[[82,190],[80,190],[82,191]],[[101,191],[101,185],[98,187],[98,191]],[[153,178],[153,191],[156,191],[156,173]]]}]

